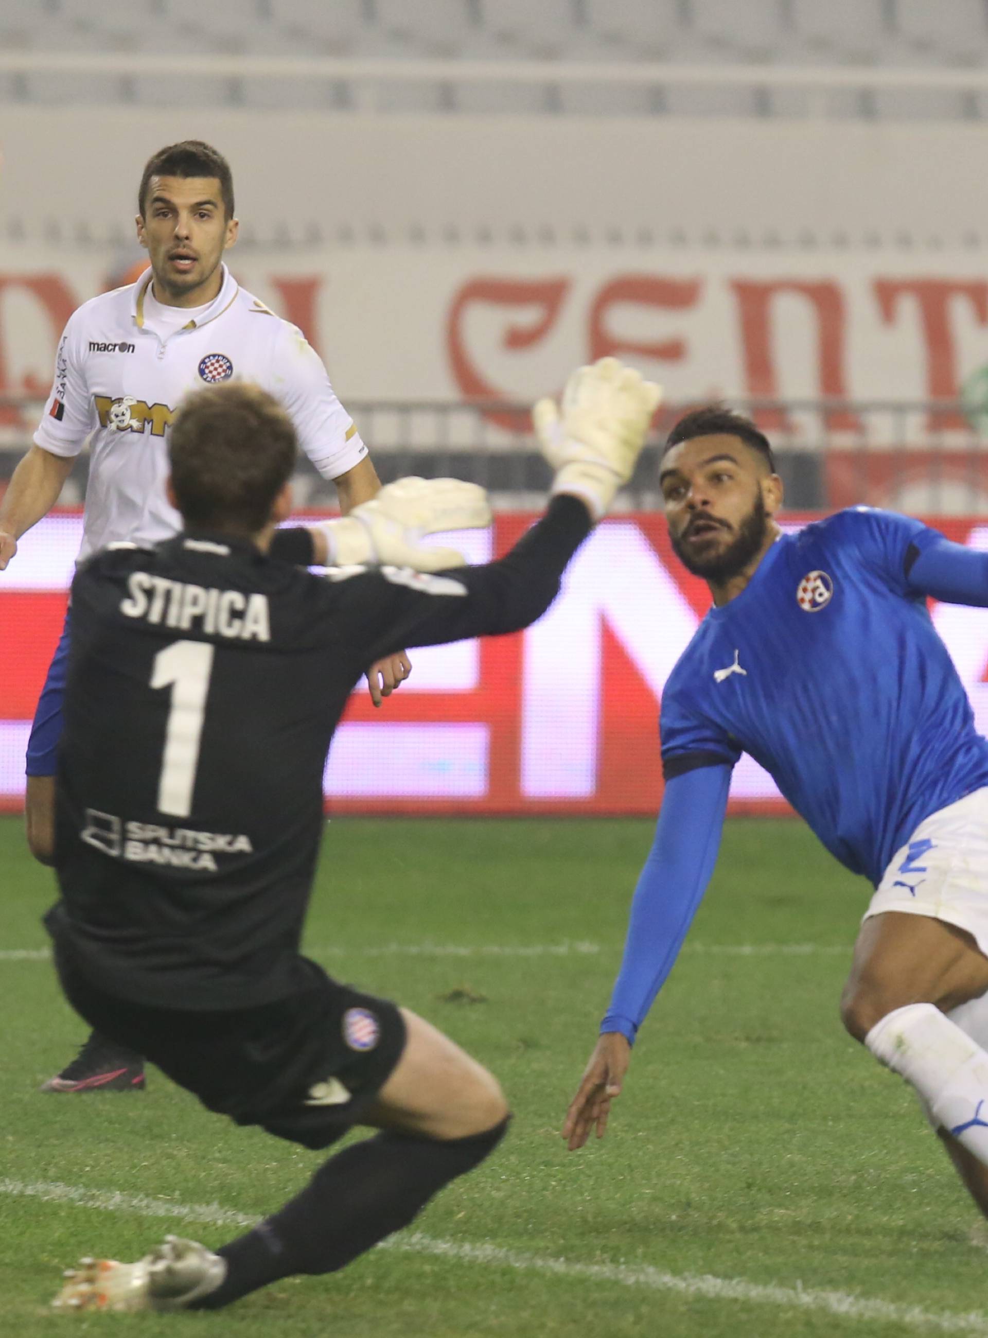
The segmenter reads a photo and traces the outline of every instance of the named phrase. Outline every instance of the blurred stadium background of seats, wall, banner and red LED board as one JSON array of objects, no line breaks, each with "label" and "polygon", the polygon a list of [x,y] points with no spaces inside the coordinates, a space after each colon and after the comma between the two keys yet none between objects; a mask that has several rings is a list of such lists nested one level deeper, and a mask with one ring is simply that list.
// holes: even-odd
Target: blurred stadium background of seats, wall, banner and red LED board
[{"label": "blurred stadium background of seats, wall, banner and red LED board", "polygon": [[[656,702],[706,607],[655,514],[679,412],[751,411],[793,523],[868,502],[988,546],[985,56],[984,0],[4,0],[0,486],[64,320],[143,268],[145,159],[205,138],[234,273],[320,351],[382,476],[493,490],[473,559],[541,504],[533,397],[609,352],[667,387],[536,629],[419,652],[376,714],[355,696],[333,807],[653,812]],[[8,808],[84,483],[0,577]],[[979,615],[934,617],[985,728]],[[778,807],[754,764],[734,793]]]}]

